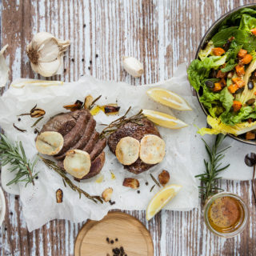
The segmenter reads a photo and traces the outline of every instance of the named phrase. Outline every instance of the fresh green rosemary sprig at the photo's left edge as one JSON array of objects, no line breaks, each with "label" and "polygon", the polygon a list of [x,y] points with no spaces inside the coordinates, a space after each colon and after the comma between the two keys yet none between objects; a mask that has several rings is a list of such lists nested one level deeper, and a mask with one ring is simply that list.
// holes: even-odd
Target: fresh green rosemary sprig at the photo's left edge
[{"label": "fresh green rosemary sprig at the photo's left edge", "polygon": [[34,178],[37,177],[38,173],[33,174],[33,172],[38,158],[34,162],[30,162],[26,158],[22,142],[16,143],[14,146],[5,135],[1,134],[0,158],[2,166],[10,163],[9,170],[11,172],[16,171],[15,178],[7,183],[6,186],[10,186],[13,183],[17,184],[18,182],[26,182],[26,185],[31,182],[34,185]]}]

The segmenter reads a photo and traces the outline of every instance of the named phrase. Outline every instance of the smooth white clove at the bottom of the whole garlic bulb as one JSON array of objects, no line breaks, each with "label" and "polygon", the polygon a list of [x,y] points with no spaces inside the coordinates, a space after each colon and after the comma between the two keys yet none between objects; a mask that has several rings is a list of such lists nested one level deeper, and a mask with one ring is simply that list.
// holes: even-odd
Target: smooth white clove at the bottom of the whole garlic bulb
[{"label": "smooth white clove at the bottom of the whole garlic bulb", "polygon": [[58,68],[61,65],[61,57],[58,57],[53,62],[38,62],[37,65],[31,62],[31,67],[34,72],[41,74],[44,77],[50,77],[57,74]]}]

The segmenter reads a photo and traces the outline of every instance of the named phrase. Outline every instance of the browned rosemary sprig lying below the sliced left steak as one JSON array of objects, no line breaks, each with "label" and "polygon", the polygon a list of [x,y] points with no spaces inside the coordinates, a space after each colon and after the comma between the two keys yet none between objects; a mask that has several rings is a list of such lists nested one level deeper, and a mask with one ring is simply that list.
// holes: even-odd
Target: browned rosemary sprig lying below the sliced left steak
[{"label": "browned rosemary sprig lying below the sliced left steak", "polygon": [[90,194],[86,193],[86,191],[80,189],[78,186],[74,185],[73,182],[71,182],[70,178],[68,178],[65,174],[65,172],[56,165],[56,163],[54,161],[51,161],[49,159],[46,158],[42,158],[42,156],[39,156],[42,159],[42,162],[44,162],[46,164],[46,166],[48,166],[50,169],[54,170],[57,174],[59,174],[60,176],[62,176],[62,181],[64,183],[64,186],[66,186],[66,184],[68,186],[70,186],[70,188],[74,191],[77,191],[79,194],[79,198],[81,198],[81,195],[84,194],[86,196],[86,198],[89,198],[90,200],[94,201],[94,202],[101,202],[102,198],[100,196],[91,196]]}]

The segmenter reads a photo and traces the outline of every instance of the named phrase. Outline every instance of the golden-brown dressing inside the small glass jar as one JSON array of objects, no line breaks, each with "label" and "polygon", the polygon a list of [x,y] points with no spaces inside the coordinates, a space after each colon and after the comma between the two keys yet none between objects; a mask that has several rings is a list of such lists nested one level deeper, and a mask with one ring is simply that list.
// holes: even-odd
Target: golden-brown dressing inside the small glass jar
[{"label": "golden-brown dressing inside the small glass jar", "polygon": [[238,199],[223,196],[216,198],[208,210],[210,226],[220,233],[238,230],[245,217],[244,209]]}]

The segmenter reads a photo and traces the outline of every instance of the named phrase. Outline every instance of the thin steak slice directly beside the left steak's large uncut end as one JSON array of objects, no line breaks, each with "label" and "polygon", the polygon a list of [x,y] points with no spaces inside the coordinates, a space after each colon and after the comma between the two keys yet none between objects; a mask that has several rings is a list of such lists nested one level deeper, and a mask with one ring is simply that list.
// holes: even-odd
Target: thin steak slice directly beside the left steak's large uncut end
[{"label": "thin steak slice directly beside the left steak's large uncut end", "polygon": [[80,115],[75,126],[64,136],[64,145],[58,155],[64,154],[74,146],[80,138],[82,138],[82,134],[84,134],[86,130],[86,124],[89,118],[90,112],[88,110],[80,110]]}]

